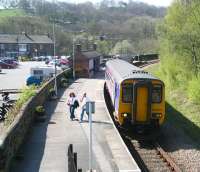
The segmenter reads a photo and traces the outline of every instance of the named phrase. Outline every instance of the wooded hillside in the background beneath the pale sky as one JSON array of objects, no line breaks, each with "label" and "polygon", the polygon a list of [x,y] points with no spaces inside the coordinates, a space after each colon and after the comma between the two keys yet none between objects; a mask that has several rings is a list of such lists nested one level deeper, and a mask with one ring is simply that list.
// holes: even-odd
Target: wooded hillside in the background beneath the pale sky
[{"label": "wooded hillside in the background beneath the pale sky", "polygon": [[[163,19],[165,8],[132,1],[110,4],[104,0],[99,5],[39,0],[15,2],[13,10],[0,11],[6,18],[1,21],[0,33],[52,34],[54,21],[59,53],[71,52],[74,34],[77,42],[97,42],[98,51],[103,54],[158,52],[156,25]],[[103,41],[98,41],[100,36]]]}]

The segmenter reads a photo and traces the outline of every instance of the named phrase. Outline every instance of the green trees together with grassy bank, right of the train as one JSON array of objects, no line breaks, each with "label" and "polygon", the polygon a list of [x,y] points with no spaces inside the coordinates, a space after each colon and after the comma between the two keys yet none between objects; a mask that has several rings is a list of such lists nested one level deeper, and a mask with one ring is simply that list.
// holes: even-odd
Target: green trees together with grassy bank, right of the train
[{"label": "green trees together with grassy bank, right of the train", "polygon": [[199,141],[199,1],[175,0],[158,26],[158,33],[161,63],[156,73],[167,87],[168,118]]}]

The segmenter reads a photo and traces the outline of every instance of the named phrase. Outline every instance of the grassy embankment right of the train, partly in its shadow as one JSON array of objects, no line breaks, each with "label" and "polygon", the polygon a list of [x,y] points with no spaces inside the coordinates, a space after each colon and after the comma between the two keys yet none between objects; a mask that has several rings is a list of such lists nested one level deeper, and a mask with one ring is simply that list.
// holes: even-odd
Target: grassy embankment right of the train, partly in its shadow
[{"label": "grassy embankment right of the train, partly in its shadow", "polygon": [[166,123],[181,128],[192,139],[200,143],[200,103],[188,97],[184,86],[172,89],[167,82],[169,78],[163,75],[161,64],[153,65],[147,70],[165,83]]}]

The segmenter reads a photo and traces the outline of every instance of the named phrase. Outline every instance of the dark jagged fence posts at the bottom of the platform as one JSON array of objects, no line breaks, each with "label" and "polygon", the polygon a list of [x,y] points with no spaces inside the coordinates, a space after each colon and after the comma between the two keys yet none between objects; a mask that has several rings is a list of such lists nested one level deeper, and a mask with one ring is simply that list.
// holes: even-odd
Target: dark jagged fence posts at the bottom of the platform
[{"label": "dark jagged fence posts at the bottom of the platform", "polygon": [[77,169],[77,153],[73,152],[73,145],[68,146],[68,172],[82,172],[82,169]]}]

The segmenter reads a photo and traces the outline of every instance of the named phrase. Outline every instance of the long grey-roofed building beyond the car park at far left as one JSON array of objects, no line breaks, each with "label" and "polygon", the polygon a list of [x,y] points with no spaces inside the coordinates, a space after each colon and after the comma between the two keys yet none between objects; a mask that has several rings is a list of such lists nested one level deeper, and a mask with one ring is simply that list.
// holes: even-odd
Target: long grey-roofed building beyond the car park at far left
[{"label": "long grey-roofed building beyond the car park at far left", "polygon": [[0,34],[0,57],[53,55],[53,41],[49,35]]}]

